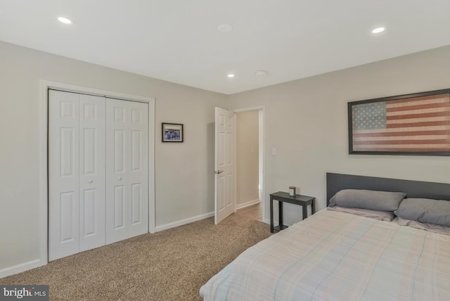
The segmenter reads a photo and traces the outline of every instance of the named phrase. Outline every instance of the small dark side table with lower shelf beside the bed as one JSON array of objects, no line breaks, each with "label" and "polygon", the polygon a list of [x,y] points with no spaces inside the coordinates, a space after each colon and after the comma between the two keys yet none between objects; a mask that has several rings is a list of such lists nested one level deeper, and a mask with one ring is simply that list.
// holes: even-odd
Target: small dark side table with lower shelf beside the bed
[{"label": "small dark side table with lower shelf beside the bed", "polygon": [[[278,221],[279,225],[274,227],[274,200],[278,200]],[[283,203],[290,203],[295,205],[302,206],[303,219],[308,217],[307,206],[311,205],[311,214],[316,212],[316,206],[314,205],[314,200],[316,198],[312,196],[300,196],[297,194],[296,196],[289,196],[289,193],[278,191],[276,193],[270,194],[270,231],[274,233],[274,231],[281,231],[283,229],[288,228],[283,224]]]}]

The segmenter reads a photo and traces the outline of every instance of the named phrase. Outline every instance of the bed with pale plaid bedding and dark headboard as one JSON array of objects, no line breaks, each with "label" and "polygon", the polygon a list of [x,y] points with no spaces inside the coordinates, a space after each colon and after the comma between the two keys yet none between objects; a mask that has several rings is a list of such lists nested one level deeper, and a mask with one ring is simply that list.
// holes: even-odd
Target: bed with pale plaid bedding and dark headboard
[{"label": "bed with pale plaid bedding and dark headboard", "polygon": [[[401,191],[416,203],[450,200],[450,184],[328,173],[327,205],[353,188]],[[205,301],[450,300],[450,235],[398,219],[321,210],[245,250],[200,295]]]}]

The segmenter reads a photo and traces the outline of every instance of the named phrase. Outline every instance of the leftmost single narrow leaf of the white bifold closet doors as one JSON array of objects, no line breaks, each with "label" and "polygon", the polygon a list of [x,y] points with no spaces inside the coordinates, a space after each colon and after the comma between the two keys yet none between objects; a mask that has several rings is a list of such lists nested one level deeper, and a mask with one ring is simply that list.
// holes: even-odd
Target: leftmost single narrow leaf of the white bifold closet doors
[{"label": "leftmost single narrow leaf of the white bifold closet doors", "polygon": [[79,95],[49,91],[49,260],[79,250]]}]

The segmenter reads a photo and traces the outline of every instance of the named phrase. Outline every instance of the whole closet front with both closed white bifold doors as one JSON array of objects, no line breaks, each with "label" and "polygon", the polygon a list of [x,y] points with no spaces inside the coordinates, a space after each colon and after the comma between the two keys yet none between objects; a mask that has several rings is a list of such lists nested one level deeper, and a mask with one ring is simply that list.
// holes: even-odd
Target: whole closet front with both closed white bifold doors
[{"label": "whole closet front with both closed white bifold doors", "polygon": [[49,90],[49,260],[148,232],[148,104]]}]

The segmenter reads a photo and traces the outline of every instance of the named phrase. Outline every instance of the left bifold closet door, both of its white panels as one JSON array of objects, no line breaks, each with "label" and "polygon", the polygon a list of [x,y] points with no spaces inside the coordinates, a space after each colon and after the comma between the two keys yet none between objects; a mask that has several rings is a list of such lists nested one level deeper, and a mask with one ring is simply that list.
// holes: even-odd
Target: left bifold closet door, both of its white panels
[{"label": "left bifold closet door, both of its white panels", "polygon": [[105,98],[49,91],[49,260],[105,245]]}]

